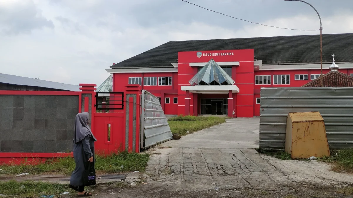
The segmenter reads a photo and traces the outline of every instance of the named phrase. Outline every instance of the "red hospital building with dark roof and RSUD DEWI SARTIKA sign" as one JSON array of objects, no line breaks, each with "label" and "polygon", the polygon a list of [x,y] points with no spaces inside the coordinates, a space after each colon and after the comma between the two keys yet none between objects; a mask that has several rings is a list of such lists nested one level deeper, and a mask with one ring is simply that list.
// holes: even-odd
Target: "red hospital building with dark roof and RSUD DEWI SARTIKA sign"
[{"label": "red hospital building with dark roof and RSUD DEWI SARTIKA sign", "polygon": [[[331,54],[353,75],[353,33],[323,35],[323,74]],[[203,69],[204,68],[204,69]],[[171,41],[113,64],[113,92],[139,84],[166,115],[260,115],[261,87],[300,87],[320,75],[319,35]]]}]

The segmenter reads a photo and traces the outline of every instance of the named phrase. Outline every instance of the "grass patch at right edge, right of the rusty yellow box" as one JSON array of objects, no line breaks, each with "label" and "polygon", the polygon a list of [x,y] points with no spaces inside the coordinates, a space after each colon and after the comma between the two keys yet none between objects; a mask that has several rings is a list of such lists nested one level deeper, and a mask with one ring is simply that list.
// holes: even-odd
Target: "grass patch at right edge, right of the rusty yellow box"
[{"label": "grass patch at right edge, right of the rusty yellow box", "polygon": [[353,149],[332,150],[330,157],[321,157],[318,161],[333,163],[332,171],[353,173]]}]

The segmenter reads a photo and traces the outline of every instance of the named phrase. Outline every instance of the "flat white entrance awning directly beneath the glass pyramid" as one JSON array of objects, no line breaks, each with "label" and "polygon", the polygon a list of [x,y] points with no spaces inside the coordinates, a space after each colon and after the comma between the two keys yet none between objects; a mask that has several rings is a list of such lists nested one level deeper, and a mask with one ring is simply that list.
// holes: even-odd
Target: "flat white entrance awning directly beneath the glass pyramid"
[{"label": "flat white entrance awning directly beneath the glass pyramid", "polygon": [[239,93],[237,85],[194,85],[181,86],[181,91],[190,91],[191,93]]}]

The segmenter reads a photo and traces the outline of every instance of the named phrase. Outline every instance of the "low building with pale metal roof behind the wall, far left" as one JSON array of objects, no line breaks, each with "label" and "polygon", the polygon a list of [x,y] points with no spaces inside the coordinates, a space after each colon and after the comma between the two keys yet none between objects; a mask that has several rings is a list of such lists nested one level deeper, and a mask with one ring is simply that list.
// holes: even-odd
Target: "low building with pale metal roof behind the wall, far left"
[{"label": "low building with pale metal roof behind the wall, far left", "polygon": [[80,86],[0,73],[0,90],[80,91]]}]

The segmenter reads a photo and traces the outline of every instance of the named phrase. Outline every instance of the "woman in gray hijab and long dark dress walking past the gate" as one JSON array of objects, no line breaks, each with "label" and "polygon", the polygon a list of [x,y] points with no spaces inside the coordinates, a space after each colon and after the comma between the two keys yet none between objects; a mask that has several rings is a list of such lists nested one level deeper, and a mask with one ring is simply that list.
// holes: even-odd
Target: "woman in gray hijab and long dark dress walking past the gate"
[{"label": "woman in gray hijab and long dark dress walking past the gate", "polygon": [[69,187],[77,191],[77,196],[89,197],[91,193],[86,192],[83,186],[83,176],[86,166],[93,163],[94,167],[94,142],[97,141],[89,128],[88,112],[78,113],[75,119],[75,133],[73,138],[73,158],[76,163],[72,172]]}]

